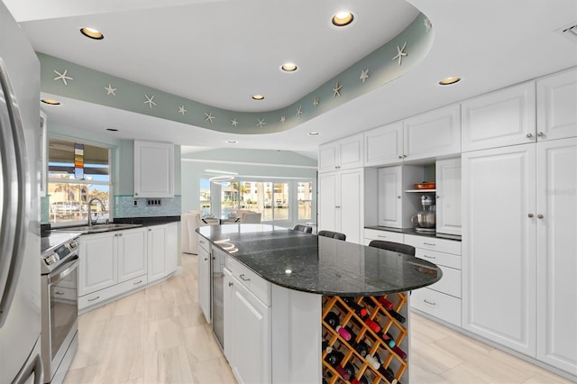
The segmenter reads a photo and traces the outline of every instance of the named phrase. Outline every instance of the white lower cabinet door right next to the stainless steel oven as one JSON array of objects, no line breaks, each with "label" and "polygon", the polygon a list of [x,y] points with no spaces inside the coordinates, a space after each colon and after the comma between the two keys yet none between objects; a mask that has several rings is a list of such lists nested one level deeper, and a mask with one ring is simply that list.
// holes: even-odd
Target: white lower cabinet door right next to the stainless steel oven
[{"label": "white lower cabinet door right next to the stainless steel oven", "polygon": [[78,296],[108,288],[118,281],[118,253],[114,233],[80,237]]}]

